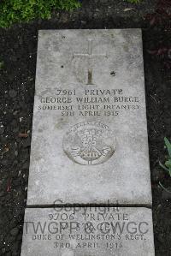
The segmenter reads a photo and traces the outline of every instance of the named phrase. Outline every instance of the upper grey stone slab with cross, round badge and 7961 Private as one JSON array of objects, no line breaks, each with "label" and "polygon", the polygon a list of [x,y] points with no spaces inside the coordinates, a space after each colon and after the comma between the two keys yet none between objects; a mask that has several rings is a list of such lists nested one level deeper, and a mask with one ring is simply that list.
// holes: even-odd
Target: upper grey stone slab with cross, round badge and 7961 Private
[{"label": "upper grey stone slab with cross, round badge and 7961 Private", "polygon": [[40,31],[28,205],[151,204],[139,29]]}]

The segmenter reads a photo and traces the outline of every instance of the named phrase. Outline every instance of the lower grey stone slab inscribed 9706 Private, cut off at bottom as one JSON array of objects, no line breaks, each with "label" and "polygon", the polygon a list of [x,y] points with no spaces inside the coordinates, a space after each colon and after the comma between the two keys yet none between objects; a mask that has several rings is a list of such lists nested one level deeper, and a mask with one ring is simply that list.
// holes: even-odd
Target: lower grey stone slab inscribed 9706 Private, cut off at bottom
[{"label": "lower grey stone slab inscribed 9706 Private, cut off at bottom", "polygon": [[154,256],[151,210],[27,209],[21,256]]}]

